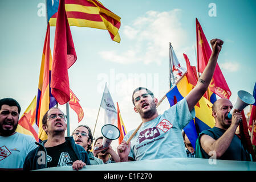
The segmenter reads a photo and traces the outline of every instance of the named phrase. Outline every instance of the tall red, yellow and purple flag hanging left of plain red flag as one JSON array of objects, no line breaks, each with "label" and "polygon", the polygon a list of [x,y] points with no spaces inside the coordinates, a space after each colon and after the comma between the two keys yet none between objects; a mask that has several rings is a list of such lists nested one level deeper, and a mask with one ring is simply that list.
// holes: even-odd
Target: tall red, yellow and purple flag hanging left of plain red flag
[{"label": "tall red, yellow and purple flag hanging left of plain red flag", "polygon": [[39,140],[46,140],[47,134],[42,127],[43,115],[53,106],[56,100],[51,94],[51,68],[52,57],[50,49],[50,25],[47,26],[46,38],[44,40],[43,55],[41,61],[38,94],[36,99],[36,125],[38,126]]}]

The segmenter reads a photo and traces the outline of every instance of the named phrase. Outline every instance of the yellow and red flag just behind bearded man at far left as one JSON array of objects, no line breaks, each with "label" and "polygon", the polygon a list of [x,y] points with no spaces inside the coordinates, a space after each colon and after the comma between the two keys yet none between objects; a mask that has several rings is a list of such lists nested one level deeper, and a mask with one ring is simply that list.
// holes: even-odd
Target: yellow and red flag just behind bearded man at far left
[{"label": "yellow and red flag just behind bearded man at far left", "polygon": [[32,127],[33,125],[35,125],[35,111],[36,111],[36,96],[32,100],[29,107],[27,107],[25,112],[22,114],[21,119],[19,119],[18,127],[16,131],[19,133],[30,135],[34,137],[37,142],[39,142],[38,133],[36,132],[34,127]]}]

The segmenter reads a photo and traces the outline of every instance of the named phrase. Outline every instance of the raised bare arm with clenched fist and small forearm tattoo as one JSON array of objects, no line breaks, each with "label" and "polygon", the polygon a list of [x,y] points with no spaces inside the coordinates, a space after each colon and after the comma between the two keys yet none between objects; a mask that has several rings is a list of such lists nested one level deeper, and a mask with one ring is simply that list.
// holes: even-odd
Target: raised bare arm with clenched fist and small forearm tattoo
[{"label": "raised bare arm with clenched fist and small forearm tattoo", "polygon": [[202,72],[202,75],[198,79],[197,85],[186,96],[186,101],[188,102],[190,111],[194,108],[200,98],[204,96],[204,93],[208,89],[210,81],[213,77],[213,73],[217,64],[218,55],[221,51],[223,41],[220,39],[212,39],[210,40],[210,44],[212,45],[213,52],[210,56],[208,64],[206,65],[204,72]]}]

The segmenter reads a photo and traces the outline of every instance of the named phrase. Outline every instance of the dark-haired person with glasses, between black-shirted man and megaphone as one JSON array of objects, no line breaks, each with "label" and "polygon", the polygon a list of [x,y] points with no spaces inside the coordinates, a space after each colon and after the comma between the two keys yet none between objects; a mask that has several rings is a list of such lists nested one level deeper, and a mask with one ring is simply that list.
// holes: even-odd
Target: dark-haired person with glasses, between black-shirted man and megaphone
[{"label": "dark-haired person with glasses, between black-shirted man and megaphone", "polygon": [[96,158],[94,154],[92,154],[92,152],[90,151],[92,149],[92,142],[94,140],[90,127],[86,125],[78,126],[73,131],[73,139],[75,140],[76,144],[79,144],[84,148],[84,150],[87,151],[91,165],[104,164],[103,160]]}]

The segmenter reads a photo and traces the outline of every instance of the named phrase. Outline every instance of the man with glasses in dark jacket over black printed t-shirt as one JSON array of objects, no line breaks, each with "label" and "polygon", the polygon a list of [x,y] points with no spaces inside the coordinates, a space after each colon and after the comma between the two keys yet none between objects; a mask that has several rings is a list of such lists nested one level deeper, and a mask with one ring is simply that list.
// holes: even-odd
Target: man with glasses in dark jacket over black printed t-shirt
[{"label": "man with glasses in dark jacket over black printed t-shirt", "polygon": [[42,119],[43,130],[48,139],[36,143],[38,147],[26,157],[24,170],[42,169],[48,167],[72,166],[82,169],[90,165],[87,152],[75,144],[72,137],[65,137],[67,129],[66,115],[58,107],[52,107]]}]

